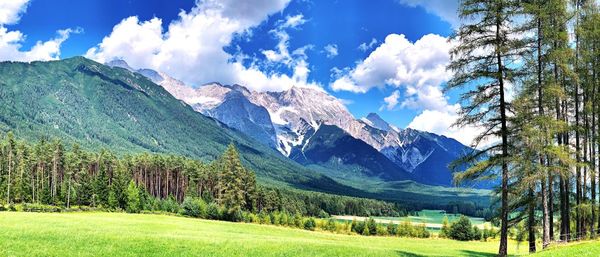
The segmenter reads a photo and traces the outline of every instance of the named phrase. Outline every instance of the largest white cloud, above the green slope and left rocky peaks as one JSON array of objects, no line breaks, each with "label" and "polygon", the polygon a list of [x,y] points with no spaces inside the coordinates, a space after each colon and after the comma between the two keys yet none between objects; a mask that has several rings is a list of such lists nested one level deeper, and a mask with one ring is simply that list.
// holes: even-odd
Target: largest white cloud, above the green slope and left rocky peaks
[{"label": "largest white cloud, above the green slope and left rocky peaks", "polygon": [[240,56],[223,50],[234,34],[248,32],[269,15],[282,11],[289,0],[198,1],[189,12],[181,11],[179,19],[166,31],[162,20],[140,21],[129,17],[117,24],[100,44],[86,56],[99,62],[114,58],[126,60],[134,68],[152,68],[192,85],[211,81],[242,84],[258,91],[280,91],[291,86],[319,87],[307,81],[310,72],[304,51],[310,46],[288,50],[292,29],[305,23],[301,14],[288,16],[271,33],[279,43],[274,50],[264,50],[270,62],[283,63],[292,74],[265,73],[257,65],[244,67]]}]

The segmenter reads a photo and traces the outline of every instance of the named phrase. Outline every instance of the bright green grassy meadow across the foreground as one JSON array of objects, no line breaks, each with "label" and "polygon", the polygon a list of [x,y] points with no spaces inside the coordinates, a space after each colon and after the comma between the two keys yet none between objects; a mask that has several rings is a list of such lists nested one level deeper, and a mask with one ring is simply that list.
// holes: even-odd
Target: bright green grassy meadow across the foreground
[{"label": "bright green grassy meadow across the foreground", "polygon": [[497,245],[163,215],[0,213],[0,256],[494,256]]}]

